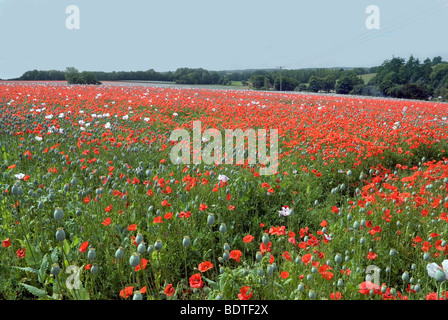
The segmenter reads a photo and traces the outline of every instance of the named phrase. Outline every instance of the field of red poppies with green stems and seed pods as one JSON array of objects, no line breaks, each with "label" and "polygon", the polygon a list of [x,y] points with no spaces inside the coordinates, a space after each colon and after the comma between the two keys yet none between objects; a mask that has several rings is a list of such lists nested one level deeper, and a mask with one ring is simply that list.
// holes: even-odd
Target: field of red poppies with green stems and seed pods
[{"label": "field of red poppies with green stems and seed pods", "polygon": [[[1,299],[448,298],[446,103],[5,82],[0,110]],[[275,173],[173,163],[193,121],[277,129]]]}]

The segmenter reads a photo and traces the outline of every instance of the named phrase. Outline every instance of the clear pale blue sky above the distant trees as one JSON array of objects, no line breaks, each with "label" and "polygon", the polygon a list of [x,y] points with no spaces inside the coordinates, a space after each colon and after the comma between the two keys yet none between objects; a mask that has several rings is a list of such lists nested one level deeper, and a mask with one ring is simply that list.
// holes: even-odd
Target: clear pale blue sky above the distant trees
[{"label": "clear pale blue sky above the distant trees", "polygon": [[[66,7],[80,29],[66,28]],[[366,8],[380,12],[369,30]],[[370,67],[448,60],[448,0],[0,0],[0,78],[25,71]]]}]

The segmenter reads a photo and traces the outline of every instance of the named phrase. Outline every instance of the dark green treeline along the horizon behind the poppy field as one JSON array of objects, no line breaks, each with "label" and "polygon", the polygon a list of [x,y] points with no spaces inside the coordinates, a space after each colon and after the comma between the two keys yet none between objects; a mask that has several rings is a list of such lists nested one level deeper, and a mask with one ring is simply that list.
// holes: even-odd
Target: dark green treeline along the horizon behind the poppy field
[{"label": "dark green treeline along the horizon behind the poppy field", "polygon": [[[361,76],[370,75],[365,81]],[[371,68],[254,69],[209,71],[179,68],[176,71],[65,71],[32,70],[18,80],[64,81],[71,84],[100,84],[100,81],[164,81],[176,84],[231,85],[238,82],[256,90],[335,92],[364,96],[384,96],[428,100],[448,100],[448,62],[438,56],[423,62],[413,56],[406,61],[393,57]]]}]

